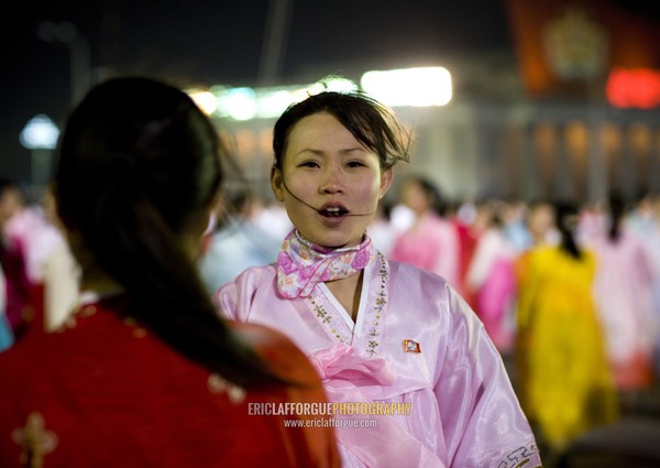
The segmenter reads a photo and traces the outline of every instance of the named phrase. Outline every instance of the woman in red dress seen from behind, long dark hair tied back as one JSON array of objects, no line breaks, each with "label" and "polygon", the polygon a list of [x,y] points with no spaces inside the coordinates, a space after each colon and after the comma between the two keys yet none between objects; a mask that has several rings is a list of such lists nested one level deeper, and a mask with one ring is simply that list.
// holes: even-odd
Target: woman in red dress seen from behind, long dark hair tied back
[{"label": "woman in red dress seen from behind, long dark hair tied back", "polygon": [[190,98],[150,79],[101,84],[73,112],[55,196],[80,305],[0,355],[0,466],[339,465],[328,415],[253,415],[324,393],[283,335],[218,319],[197,275],[219,154]]}]

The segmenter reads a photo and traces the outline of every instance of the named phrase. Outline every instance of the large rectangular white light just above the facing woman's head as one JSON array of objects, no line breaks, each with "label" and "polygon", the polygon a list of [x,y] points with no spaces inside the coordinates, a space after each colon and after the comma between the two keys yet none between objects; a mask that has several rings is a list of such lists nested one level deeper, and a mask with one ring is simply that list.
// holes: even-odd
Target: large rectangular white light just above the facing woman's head
[{"label": "large rectangular white light just above the facing woman's head", "polygon": [[366,72],[362,88],[387,106],[444,106],[451,100],[451,75],[443,67]]}]

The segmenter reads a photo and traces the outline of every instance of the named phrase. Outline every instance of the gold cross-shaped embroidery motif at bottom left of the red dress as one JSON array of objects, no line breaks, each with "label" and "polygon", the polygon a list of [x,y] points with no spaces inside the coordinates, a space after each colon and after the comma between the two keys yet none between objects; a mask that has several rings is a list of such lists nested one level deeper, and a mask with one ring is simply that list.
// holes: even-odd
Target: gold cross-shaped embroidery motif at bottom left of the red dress
[{"label": "gold cross-shaped embroidery motif at bottom left of the red dress", "polygon": [[25,420],[25,426],[12,431],[11,438],[23,448],[21,465],[30,468],[42,468],[44,457],[58,444],[57,435],[46,429],[44,416],[33,411]]}]

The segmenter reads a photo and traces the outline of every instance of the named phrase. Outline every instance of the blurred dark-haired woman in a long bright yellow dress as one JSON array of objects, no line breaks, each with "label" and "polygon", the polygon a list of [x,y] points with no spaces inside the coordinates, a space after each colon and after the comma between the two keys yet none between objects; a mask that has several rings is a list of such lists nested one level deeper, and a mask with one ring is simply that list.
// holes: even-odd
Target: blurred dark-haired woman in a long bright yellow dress
[{"label": "blurred dark-haired woman in a long bright yellow dress", "polygon": [[595,259],[575,242],[576,211],[558,205],[557,220],[560,243],[526,259],[518,326],[527,337],[521,402],[540,439],[561,453],[616,420],[618,403],[592,292]]}]

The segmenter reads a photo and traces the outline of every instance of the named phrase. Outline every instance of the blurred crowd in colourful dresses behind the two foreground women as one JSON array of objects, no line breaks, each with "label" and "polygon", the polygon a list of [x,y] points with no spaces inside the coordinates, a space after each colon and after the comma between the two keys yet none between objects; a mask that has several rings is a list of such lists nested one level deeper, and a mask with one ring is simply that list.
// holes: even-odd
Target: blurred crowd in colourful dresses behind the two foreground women
[{"label": "blurred crowd in colourful dresses behind the two foreground women", "polygon": [[[29,327],[56,333],[65,325],[78,300],[77,265],[50,196],[26,204],[4,179],[0,214],[7,349]],[[209,294],[248,266],[274,262],[292,229],[283,207],[248,184],[228,193],[215,221],[199,260]],[[657,439],[658,195],[624,202],[613,193],[582,205],[457,200],[426,175],[408,174],[369,235],[389,259],[436,272],[462,294],[505,359],[547,453],[622,422],[653,424],[645,437]]]}]

